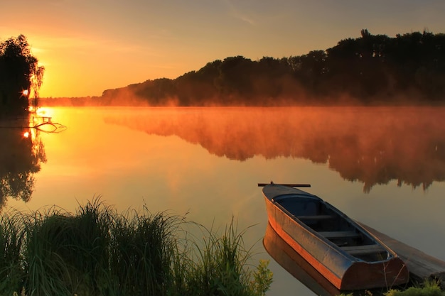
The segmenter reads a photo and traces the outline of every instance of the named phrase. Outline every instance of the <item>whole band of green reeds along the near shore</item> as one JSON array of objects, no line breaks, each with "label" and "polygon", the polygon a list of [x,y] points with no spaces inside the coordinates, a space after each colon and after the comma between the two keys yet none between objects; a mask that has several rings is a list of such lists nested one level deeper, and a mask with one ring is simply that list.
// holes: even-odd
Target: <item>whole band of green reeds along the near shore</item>
[{"label": "whole band of green reeds along the near shore", "polygon": [[[191,231],[199,229],[197,239]],[[166,212],[118,213],[100,199],[75,213],[0,215],[0,295],[264,295],[232,219],[223,234]]]}]

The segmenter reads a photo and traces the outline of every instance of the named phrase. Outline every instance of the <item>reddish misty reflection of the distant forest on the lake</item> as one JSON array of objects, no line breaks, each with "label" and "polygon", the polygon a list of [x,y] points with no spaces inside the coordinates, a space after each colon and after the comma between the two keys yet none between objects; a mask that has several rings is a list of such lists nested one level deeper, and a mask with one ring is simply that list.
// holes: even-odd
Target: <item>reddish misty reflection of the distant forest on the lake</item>
[{"label": "reddish misty reflection of the distant forest on the lake", "polygon": [[306,158],[328,163],[363,190],[397,180],[445,180],[445,108],[157,108],[107,116],[158,136],[176,135],[232,160]]}]

